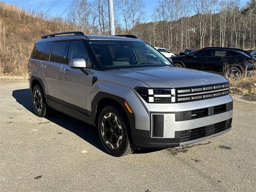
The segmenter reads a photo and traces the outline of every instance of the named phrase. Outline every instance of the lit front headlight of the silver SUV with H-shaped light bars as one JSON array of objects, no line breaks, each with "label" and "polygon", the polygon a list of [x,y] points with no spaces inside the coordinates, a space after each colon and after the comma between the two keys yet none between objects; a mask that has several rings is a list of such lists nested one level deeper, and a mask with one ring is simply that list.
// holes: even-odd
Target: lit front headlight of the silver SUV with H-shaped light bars
[{"label": "lit front headlight of the silver SUV with H-shaped light bars", "polygon": [[147,103],[175,103],[175,89],[136,87],[136,92]]}]

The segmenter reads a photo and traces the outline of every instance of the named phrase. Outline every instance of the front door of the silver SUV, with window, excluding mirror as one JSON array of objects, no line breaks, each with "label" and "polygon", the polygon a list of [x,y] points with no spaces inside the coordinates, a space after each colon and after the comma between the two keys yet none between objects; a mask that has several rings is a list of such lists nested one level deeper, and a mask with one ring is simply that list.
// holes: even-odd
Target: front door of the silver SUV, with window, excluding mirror
[{"label": "front door of the silver SUV, with window, excluding mirror", "polygon": [[68,60],[62,66],[61,70],[61,98],[63,101],[63,110],[70,113],[70,109],[78,110],[86,114],[87,97],[92,89],[93,69],[88,69],[86,74],[81,68],[72,68],[68,65],[71,59],[83,58],[89,67],[91,66],[90,58],[82,40],[70,41],[68,49]]}]

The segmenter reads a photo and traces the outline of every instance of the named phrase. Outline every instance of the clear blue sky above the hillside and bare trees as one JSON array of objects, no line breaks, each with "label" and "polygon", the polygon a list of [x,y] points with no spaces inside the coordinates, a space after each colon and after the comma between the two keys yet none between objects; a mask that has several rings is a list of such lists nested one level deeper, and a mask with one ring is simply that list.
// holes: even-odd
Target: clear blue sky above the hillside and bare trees
[{"label": "clear blue sky above the hillside and bare trees", "polygon": [[[22,7],[24,9],[34,9],[36,10],[40,4],[43,2],[43,0],[4,0],[6,3],[16,4],[19,7]],[[54,0],[45,0],[42,6],[38,9],[38,11],[46,12],[48,8],[51,6],[51,4],[54,2]],[[59,16],[62,14],[62,12],[68,7],[68,5],[72,2],[72,0],[60,0],[54,8],[50,10],[48,15],[51,16]],[[94,2],[94,0],[88,0],[88,2]],[[156,7],[158,0],[144,0],[146,4],[145,12],[146,21],[151,20],[151,15],[154,11],[154,8]],[[67,13],[67,12],[66,12]],[[66,16],[64,14],[63,16]],[[122,20],[120,20],[122,22]]]}]

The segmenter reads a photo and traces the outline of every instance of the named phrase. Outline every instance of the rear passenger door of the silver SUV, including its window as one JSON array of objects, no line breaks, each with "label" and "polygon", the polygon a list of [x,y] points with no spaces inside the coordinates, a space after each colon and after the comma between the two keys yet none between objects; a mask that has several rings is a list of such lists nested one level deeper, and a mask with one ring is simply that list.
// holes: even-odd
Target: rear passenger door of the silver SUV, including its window
[{"label": "rear passenger door of the silver SUV, including its window", "polygon": [[60,70],[62,64],[66,62],[68,41],[58,41],[53,43],[50,61],[42,61],[41,67],[44,69],[44,76],[48,85],[51,100],[60,102]]}]

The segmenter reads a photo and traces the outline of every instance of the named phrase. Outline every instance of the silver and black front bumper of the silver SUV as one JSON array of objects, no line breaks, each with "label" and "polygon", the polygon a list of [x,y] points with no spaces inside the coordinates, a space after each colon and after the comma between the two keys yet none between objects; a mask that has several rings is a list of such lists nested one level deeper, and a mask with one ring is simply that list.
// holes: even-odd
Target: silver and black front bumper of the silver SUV
[{"label": "silver and black front bumper of the silver SUV", "polygon": [[[159,104],[157,108],[155,106],[155,104],[147,104],[148,118],[135,113],[136,125],[139,120],[140,126],[132,130],[132,138],[139,147],[177,147],[206,140],[231,129],[233,101],[229,95],[171,104],[162,108]],[[195,114],[198,115],[196,118]],[[155,120],[155,116],[160,116],[160,120]]]}]

